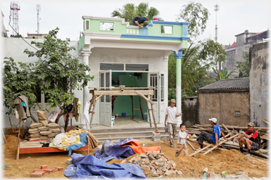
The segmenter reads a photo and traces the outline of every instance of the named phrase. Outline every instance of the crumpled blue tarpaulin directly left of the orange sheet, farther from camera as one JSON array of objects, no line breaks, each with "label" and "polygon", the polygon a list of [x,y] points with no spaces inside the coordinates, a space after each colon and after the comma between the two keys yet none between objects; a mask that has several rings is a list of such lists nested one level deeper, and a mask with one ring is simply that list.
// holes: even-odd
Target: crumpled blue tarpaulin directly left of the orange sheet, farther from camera
[{"label": "crumpled blue tarpaulin directly left of the orange sheet, farther from camera", "polygon": [[121,147],[120,145],[132,139],[133,138],[123,139],[118,141],[116,144],[108,140],[104,141],[102,149],[95,150],[94,155],[96,158],[103,160],[104,162],[112,159],[128,158],[129,156],[134,155],[135,152],[129,146]]}]

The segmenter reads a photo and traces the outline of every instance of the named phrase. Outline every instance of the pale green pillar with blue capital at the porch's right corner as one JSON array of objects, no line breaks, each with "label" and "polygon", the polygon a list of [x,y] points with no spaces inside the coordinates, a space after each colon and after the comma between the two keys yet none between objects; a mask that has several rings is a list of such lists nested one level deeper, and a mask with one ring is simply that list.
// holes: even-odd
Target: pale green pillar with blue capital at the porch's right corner
[{"label": "pale green pillar with blue capital at the porch's right corner", "polygon": [[[174,51],[174,57],[176,58],[176,108],[178,112],[181,112],[181,58],[183,58],[183,50],[179,50],[178,53]],[[177,117],[177,127],[181,124],[181,117]]]}]

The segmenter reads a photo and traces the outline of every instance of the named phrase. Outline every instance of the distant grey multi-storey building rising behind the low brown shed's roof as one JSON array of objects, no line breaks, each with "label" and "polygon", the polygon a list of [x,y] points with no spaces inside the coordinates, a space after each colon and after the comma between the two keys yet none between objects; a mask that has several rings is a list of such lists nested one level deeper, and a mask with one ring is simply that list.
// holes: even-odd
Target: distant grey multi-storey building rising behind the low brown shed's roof
[{"label": "distant grey multi-storey building rising behind the low brown shed's roof", "polygon": [[[243,58],[243,54],[245,52],[249,52],[249,48],[253,44],[259,44],[269,37],[269,30],[264,32],[256,33],[256,32],[245,32],[241,34],[235,35],[236,42],[234,41],[233,44],[229,48],[226,47],[225,51],[229,53],[230,56],[226,56],[225,63],[222,65],[222,68],[228,68],[228,72],[236,69],[235,65],[237,65],[237,61],[244,62],[245,59]],[[231,74],[229,78],[234,78],[239,76],[239,71],[236,70],[234,73]]]}]

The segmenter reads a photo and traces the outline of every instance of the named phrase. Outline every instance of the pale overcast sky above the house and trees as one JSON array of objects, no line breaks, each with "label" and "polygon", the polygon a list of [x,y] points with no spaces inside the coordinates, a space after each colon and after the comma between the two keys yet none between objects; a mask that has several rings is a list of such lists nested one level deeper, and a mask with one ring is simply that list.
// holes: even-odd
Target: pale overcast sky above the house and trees
[{"label": "pale overcast sky above the house and trees", "polygon": [[[40,4],[40,33],[47,34],[49,30],[59,27],[58,38],[70,38],[78,41],[80,31],[83,31],[83,15],[110,18],[111,13],[116,8],[121,8],[124,4],[133,3],[135,6],[141,2],[147,2],[149,7],[155,7],[159,11],[159,18],[165,21],[176,21],[183,5],[189,3],[186,0],[134,0],[134,1],[18,1],[19,11],[19,33],[27,37],[28,33],[37,33],[37,11],[36,4]],[[229,45],[236,41],[236,34],[245,30],[248,32],[263,32],[270,27],[270,4],[267,0],[202,0],[200,2],[210,12],[206,29],[199,39],[215,39],[216,13],[215,4],[219,5],[217,11],[217,41],[220,44]],[[11,27],[8,27],[11,1],[1,1],[1,11],[4,13],[4,25],[9,34],[12,34]],[[12,20],[11,20],[12,25]]]}]

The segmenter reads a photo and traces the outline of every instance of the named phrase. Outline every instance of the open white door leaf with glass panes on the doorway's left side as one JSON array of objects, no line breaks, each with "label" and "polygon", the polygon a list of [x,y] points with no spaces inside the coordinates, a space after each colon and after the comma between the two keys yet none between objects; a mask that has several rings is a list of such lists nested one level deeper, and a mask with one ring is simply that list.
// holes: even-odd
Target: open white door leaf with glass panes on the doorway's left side
[{"label": "open white door leaf with glass panes on the doorway's left side", "polygon": [[[100,72],[100,87],[110,87],[112,82],[111,70],[105,70]],[[107,89],[109,90],[109,89]],[[111,115],[112,115],[112,96],[102,96],[100,98],[100,124],[111,127]]]}]

